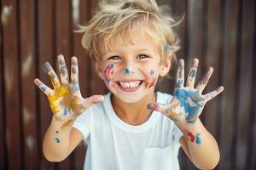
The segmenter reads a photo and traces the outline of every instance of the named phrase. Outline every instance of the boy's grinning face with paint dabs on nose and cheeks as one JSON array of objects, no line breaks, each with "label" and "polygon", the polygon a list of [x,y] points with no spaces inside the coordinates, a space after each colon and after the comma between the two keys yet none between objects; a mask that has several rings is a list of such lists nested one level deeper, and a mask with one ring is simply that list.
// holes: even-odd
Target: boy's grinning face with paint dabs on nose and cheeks
[{"label": "boy's grinning face with paint dabs on nose and cheeks", "polygon": [[[160,63],[159,46],[140,29],[133,29],[131,42],[116,37],[113,48],[102,56],[102,79],[109,90],[125,103],[154,94],[159,76],[170,69],[171,58]],[[149,95],[150,96],[150,95]]]}]

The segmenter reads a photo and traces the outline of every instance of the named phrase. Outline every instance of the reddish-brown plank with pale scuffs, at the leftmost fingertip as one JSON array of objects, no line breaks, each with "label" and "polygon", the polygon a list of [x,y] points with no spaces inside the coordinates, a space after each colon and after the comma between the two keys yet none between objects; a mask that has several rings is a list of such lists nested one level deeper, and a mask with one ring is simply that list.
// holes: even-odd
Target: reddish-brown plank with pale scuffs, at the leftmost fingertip
[{"label": "reddish-brown plank with pale scuffs, at the leftmost fingertip", "polygon": [[[23,150],[25,169],[38,169],[37,109],[33,79],[35,77],[34,2],[20,3],[21,97],[23,121]],[[34,88],[28,88],[34,87]]]}]

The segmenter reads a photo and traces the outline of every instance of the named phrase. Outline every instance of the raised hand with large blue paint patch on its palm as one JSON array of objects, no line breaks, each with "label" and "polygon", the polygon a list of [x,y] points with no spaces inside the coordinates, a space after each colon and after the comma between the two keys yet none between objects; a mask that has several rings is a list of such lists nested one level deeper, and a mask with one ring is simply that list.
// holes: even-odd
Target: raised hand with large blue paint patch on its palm
[{"label": "raised hand with large blue paint patch on its palm", "polygon": [[201,115],[207,101],[213,99],[224,90],[224,87],[220,86],[211,93],[202,94],[202,91],[207,86],[207,82],[212,76],[212,67],[209,68],[204,77],[202,77],[201,82],[194,88],[198,62],[198,59],[194,59],[189,71],[186,86],[184,87],[184,60],[180,59],[172,101],[166,105],[151,103],[148,104],[148,109],[160,111],[179,124],[195,123]]}]

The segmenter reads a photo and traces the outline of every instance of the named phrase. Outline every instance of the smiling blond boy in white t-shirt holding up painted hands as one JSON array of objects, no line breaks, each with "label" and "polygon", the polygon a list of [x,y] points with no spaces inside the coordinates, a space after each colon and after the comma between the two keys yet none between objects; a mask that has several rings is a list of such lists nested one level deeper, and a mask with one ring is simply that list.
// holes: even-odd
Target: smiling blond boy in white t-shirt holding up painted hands
[{"label": "smiling blond boy in white t-shirt holding up painted hands", "polygon": [[85,26],[82,43],[110,93],[84,99],[79,90],[78,61],[72,58],[71,82],[62,55],[61,81],[49,63],[45,71],[54,89],[35,80],[54,114],[44,135],[44,156],[64,160],[84,139],[84,169],[179,169],[180,145],[196,167],[218,164],[218,144],[199,116],[207,101],[223,91],[202,95],[212,67],[194,88],[198,59],[184,86],[180,59],[173,97],[154,93],[178,49],[174,20],[154,0],[102,1]]}]

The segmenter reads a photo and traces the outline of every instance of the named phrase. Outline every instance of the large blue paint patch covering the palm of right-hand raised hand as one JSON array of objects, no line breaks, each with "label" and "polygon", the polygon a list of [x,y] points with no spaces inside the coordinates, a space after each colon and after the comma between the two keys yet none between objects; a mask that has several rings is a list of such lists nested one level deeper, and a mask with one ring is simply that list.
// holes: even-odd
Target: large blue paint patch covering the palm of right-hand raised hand
[{"label": "large blue paint patch covering the palm of right-hand raised hand", "polygon": [[[201,105],[200,102],[204,100],[199,96],[198,92],[177,88],[176,96],[180,101],[180,105],[184,107],[186,114],[186,122],[194,123],[195,117],[198,115]],[[192,100],[196,106],[189,105],[189,99]]]}]

